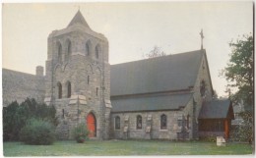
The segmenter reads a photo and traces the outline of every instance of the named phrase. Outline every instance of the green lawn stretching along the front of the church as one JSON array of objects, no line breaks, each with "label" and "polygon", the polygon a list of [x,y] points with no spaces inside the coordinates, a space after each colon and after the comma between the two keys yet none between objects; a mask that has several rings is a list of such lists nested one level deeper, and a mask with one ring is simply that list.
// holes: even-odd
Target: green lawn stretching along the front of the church
[{"label": "green lawn stretching along the front of the church", "polygon": [[4,142],[4,156],[83,156],[83,155],[240,155],[252,154],[249,144],[215,142],[174,142],[157,140],[56,141],[53,145],[26,145]]}]

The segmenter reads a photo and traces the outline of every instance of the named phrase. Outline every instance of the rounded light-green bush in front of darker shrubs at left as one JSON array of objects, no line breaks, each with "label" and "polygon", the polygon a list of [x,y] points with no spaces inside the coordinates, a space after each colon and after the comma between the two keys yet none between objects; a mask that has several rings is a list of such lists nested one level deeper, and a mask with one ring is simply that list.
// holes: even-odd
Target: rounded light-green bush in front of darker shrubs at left
[{"label": "rounded light-green bush in front of darker shrubs at left", "polygon": [[41,119],[30,119],[20,132],[20,140],[27,144],[49,145],[55,140],[55,128]]}]

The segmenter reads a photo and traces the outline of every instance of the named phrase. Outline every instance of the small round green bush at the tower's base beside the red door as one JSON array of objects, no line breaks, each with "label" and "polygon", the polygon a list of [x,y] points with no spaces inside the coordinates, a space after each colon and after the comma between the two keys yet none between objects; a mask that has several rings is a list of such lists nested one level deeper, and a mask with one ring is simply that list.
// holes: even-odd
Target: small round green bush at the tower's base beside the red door
[{"label": "small round green bush at the tower's base beside the red door", "polygon": [[82,123],[73,129],[72,134],[78,143],[83,143],[85,140],[88,139],[89,131],[87,129],[87,126]]}]

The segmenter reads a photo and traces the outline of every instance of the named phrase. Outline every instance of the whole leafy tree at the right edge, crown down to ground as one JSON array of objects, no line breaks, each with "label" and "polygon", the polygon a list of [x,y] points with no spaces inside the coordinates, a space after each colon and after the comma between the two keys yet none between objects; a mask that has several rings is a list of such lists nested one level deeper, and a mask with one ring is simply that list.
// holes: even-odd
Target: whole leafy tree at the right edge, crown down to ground
[{"label": "whole leafy tree at the right edge, crown down to ground", "polygon": [[[253,139],[253,36],[244,34],[229,43],[231,54],[222,75],[229,81],[227,91],[230,99],[237,104],[244,102],[245,112],[241,113],[244,127],[240,136],[249,142]],[[230,89],[234,89],[230,91]]]}]

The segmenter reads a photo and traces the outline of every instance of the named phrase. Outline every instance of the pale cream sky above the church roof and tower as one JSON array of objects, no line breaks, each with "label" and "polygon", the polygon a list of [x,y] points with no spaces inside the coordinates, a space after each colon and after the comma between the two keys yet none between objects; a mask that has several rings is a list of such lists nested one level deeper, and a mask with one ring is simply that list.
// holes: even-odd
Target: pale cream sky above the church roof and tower
[{"label": "pale cream sky above the church roof and tower", "polygon": [[229,59],[228,42],[253,31],[252,1],[3,4],[3,68],[29,74],[38,65],[45,69],[48,34],[68,26],[78,6],[89,26],[107,37],[110,64],[141,60],[155,45],[166,54],[198,50],[203,28],[219,96],[225,95],[219,72]]}]

